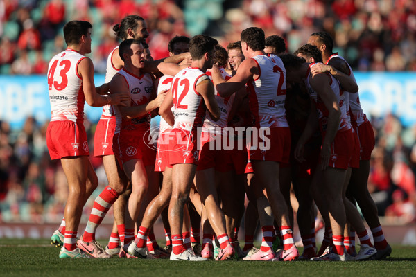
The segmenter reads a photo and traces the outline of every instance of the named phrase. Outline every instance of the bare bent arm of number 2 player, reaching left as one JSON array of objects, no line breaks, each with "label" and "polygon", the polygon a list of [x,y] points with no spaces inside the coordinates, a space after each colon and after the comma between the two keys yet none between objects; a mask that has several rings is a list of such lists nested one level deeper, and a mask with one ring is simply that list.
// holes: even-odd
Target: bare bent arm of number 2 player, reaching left
[{"label": "bare bent arm of number 2 player, reaching left", "polygon": [[253,59],[247,59],[241,62],[239,69],[237,69],[236,75],[234,75],[227,82],[223,78],[218,78],[218,75],[214,78],[214,69],[213,66],[213,75],[212,80],[220,96],[228,97],[232,93],[238,91],[250,80],[250,78],[256,78],[259,75],[259,67],[257,62]]}]

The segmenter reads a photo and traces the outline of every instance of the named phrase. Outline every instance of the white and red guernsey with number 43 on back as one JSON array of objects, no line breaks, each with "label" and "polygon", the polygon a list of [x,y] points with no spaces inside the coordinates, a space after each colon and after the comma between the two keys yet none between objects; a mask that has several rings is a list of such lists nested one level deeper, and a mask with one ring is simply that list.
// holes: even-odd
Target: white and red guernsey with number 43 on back
[{"label": "white and red guernsey with number 43 on back", "polygon": [[67,49],[55,55],[48,68],[51,121],[84,120],[85,96],[78,64],[85,59],[77,51]]}]

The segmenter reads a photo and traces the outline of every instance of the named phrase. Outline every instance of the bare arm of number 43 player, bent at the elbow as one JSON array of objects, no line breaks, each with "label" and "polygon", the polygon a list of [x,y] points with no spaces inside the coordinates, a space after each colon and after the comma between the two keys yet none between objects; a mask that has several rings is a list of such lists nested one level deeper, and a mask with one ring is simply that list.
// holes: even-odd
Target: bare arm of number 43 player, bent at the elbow
[{"label": "bare arm of number 43 player, bent at the elbow", "polygon": [[85,95],[85,100],[87,104],[92,107],[103,107],[107,104],[110,105],[121,105],[125,106],[123,101],[128,100],[129,96],[123,95],[109,95],[106,97],[100,96],[98,91],[101,91],[107,87],[108,91],[108,84],[104,84],[101,87],[98,87],[98,91],[94,84],[94,65],[92,64],[92,60],[89,58],[85,58],[80,61],[78,64],[78,74],[83,79],[83,91]]}]

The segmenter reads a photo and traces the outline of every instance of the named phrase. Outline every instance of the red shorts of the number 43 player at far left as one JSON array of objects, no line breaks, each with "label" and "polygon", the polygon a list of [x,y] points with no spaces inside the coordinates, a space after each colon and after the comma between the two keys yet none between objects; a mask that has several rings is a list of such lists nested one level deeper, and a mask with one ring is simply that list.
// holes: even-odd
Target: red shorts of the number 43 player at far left
[{"label": "red shorts of the number 43 player at far left", "polygon": [[46,131],[46,145],[52,160],[89,156],[83,122],[51,121]]}]

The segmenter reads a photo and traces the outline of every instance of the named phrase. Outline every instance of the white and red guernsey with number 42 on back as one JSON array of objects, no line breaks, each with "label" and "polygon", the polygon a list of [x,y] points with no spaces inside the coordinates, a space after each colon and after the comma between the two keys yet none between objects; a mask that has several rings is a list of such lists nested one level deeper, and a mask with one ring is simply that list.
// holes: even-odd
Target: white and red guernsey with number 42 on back
[{"label": "white and red guernsey with number 42 on back", "polygon": [[206,107],[202,96],[196,91],[196,86],[206,79],[209,80],[207,74],[191,66],[175,75],[172,84],[173,107],[175,107],[173,128],[192,132],[196,131],[196,127],[202,126]]}]

